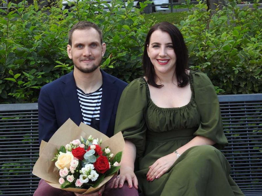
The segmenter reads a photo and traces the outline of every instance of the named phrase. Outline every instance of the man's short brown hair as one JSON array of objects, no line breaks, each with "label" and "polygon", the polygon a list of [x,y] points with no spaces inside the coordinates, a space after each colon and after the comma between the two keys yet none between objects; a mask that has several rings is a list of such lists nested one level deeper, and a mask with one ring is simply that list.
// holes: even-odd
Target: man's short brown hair
[{"label": "man's short brown hair", "polygon": [[68,33],[68,44],[72,46],[72,34],[76,29],[89,29],[89,28],[94,28],[100,37],[100,42],[101,44],[103,43],[103,38],[102,38],[102,31],[100,28],[97,26],[97,24],[89,21],[79,21],[77,24],[75,24],[71,30]]}]

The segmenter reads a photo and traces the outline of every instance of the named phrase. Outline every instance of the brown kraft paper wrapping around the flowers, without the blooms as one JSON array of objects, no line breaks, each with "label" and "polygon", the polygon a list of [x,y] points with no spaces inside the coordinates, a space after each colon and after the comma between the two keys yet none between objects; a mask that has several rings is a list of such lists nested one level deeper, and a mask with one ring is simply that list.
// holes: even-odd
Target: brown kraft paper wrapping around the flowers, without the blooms
[{"label": "brown kraft paper wrapping around the flowers, without the blooms", "polygon": [[[92,135],[94,139],[102,139],[101,148],[104,149],[105,147],[109,146],[111,153],[114,155],[120,151],[123,152],[124,150],[125,141],[121,132],[118,132],[116,135],[109,138],[105,134],[102,134],[101,132],[84,123],[81,123],[78,127],[69,118],[54,133],[48,142],[43,140],[41,141],[39,158],[33,167],[33,175],[44,179],[50,186],[54,188],[62,189],[61,184],[58,182],[60,178],[59,170],[55,166],[55,161],[51,161],[55,157],[54,154],[57,153],[57,149],[59,149],[61,145],[65,146],[66,144],[70,143],[70,141],[75,139],[80,140],[80,136],[82,136],[84,139],[87,139],[90,135]],[[111,179],[111,177],[113,177],[113,175],[105,177],[105,179],[96,188],[63,188],[63,190],[72,191],[79,194],[93,193],[96,190],[99,190],[101,186]]]}]

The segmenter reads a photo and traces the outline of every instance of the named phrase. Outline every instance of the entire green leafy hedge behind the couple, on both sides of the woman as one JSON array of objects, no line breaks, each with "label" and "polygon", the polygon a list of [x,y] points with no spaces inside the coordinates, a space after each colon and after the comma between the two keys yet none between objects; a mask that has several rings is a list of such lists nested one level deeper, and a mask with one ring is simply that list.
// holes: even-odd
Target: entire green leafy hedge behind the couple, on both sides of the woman
[{"label": "entire green leafy hedge behind the couple, on both sides of the woman", "polygon": [[[107,52],[102,69],[127,82],[143,74],[141,55],[148,28],[141,9],[133,2],[114,0],[109,12],[102,2],[78,1],[71,12],[62,10],[61,1],[52,7],[8,3],[0,10],[0,103],[36,102],[44,84],[72,70],[66,52],[68,30],[79,20],[98,24]],[[109,6],[109,5],[108,5]],[[125,8],[120,9],[120,7]],[[257,93],[261,81],[261,10],[239,10],[232,1],[212,17],[197,10],[178,24],[190,51],[190,65],[208,74],[219,93]]]}]

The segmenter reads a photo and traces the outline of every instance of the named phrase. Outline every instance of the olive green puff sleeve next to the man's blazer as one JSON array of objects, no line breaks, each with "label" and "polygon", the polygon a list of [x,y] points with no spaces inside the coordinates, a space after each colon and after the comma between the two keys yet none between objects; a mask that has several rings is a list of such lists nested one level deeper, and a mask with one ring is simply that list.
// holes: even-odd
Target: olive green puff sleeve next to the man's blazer
[{"label": "olive green puff sleeve next to the man's blazer", "polygon": [[143,78],[132,81],[124,89],[116,113],[114,133],[122,132],[124,139],[131,141],[137,148],[137,157],[145,149],[146,123],[144,113],[147,109],[146,86]]}]

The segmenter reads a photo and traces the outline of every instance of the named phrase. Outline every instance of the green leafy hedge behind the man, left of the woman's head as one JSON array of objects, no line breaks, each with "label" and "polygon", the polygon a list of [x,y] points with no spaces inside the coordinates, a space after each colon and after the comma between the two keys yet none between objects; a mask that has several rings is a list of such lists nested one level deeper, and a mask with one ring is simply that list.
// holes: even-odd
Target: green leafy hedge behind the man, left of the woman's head
[{"label": "green leafy hedge behind the man, left of the woman's head", "polygon": [[61,1],[43,8],[37,1],[26,3],[8,3],[13,7],[9,13],[0,10],[0,103],[36,102],[41,86],[72,70],[66,52],[68,31],[80,20],[102,29],[107,43],[102,69],[128,82],[142,75],[144,37],[153,23],[145,25],[140,14],[147,2],[137,9],[132,1],[125,6],[114,0],[109,12],[102,9],[102,1],[78,1],[70,12],[61,9]]}]

